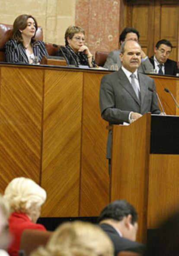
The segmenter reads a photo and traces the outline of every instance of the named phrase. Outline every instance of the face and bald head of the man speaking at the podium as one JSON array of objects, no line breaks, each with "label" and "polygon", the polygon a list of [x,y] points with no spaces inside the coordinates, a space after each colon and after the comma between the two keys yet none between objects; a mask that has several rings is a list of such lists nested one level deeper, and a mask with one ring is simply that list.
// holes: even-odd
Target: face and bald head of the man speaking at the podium
[{"label": "face and bald head of the man speaking at the podium", "polygon": [[120,53],[122,66],[130,72],[134,72],[141,65],[141,47],[135,41],[125,44],[124,53]]}]

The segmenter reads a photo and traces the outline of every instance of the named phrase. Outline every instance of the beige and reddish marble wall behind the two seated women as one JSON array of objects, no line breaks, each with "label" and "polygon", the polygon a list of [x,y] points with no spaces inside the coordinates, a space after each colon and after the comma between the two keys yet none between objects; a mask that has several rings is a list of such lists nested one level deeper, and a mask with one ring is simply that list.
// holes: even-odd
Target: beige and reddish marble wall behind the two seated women
[{"label": "beige and reddish marble wall behind the two seated women", "polygon": [[0,22],[13,24],[22,14],[32,14],[42,26],[44,41],[64,44],[70,25],[86,31],[86,43],[96,50],[118,48],[120,3],[122,0],[0,0]]}]

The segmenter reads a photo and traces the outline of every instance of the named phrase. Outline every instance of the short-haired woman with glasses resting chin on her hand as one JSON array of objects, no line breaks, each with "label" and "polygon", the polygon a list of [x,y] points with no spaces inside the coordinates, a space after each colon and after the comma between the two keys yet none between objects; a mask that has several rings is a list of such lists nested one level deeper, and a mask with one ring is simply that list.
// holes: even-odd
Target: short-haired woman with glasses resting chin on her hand
[{"label": "short-haired woman with glasses resting chin on her hand", "polygon": [[64,57],[68,65],[95,67],[93,55],[84,43],[85,31],[83,28],[70,26],[65,32],[65,47],[61,46],[57,55]]}]

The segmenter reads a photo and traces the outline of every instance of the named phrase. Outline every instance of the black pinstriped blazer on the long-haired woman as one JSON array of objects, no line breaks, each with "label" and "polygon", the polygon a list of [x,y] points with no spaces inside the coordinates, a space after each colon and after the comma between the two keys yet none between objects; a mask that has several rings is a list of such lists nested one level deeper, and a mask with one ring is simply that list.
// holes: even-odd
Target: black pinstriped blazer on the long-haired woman
[{"label": "black pinstriped blazer on the long-haired woman", "polygon": [[[36,41],[33,44],[34,56],[38,57],[38,61],[42,60],[43,56],[47,56],[47,50],[45,49],[45,43],[42,41]],[[5,44],[6,62],[10,63],[29,63],[26,49],[22,43],[17,43],[15,40],[9,40]]]}]

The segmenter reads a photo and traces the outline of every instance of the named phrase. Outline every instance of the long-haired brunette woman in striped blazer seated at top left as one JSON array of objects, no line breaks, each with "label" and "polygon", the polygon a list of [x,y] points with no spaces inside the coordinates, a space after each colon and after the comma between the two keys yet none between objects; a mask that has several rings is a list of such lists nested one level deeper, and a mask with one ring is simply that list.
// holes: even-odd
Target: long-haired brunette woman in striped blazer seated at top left
[{"label": "long-haired brunette woman in striped blazer seated at top left", "polygon": [[13,37],[5,44],[6,62],[40,63],[48,53],[44,42],[35,40],[38,25],[34,17],[22,14],[13,23]]}]

